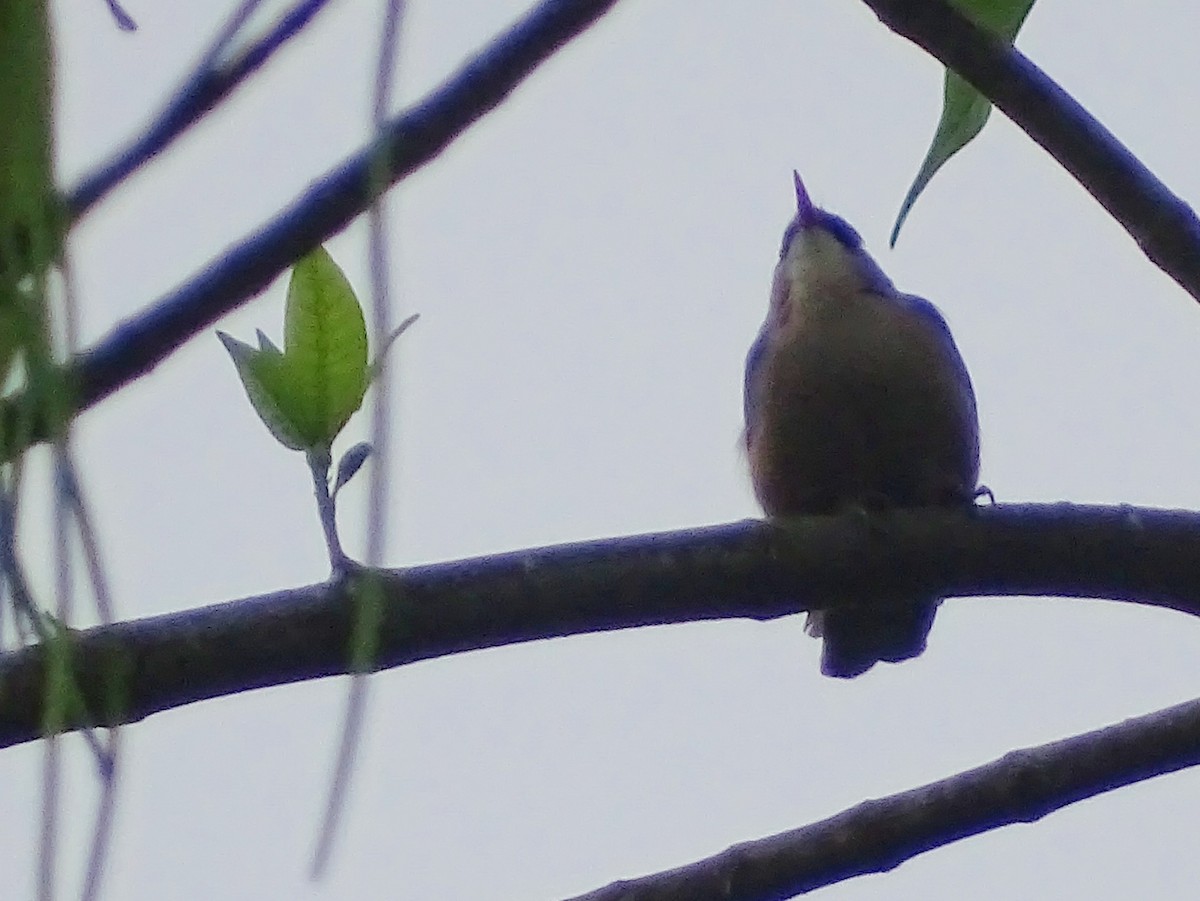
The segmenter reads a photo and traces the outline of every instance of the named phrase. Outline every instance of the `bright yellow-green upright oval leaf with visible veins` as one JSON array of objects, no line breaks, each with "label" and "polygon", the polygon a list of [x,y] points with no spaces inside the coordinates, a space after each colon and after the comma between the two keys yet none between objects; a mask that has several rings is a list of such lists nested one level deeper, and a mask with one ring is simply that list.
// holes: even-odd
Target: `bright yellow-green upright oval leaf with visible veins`
[{"label": "bright yellow-green upright oval leaf with visible veins", "polygon": [[283,328],[286,406],[308,446],[328,448],[362,406],[367,328],[354,289],[323,247],[292,269]]}]

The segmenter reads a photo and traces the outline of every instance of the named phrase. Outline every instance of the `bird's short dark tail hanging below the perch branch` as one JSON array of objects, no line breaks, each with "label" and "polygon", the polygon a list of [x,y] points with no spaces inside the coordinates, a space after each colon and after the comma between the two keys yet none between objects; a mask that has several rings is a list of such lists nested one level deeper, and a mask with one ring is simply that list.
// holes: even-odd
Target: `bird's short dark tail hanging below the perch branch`
[{"label": "bird's short dark tail hanging below the perch branch", "polygon": [[925,650],[936,599],[907,603],[851,605],[809,613],[805,631],[824,639],[821,672],[839,679],[862,675],[880,661],[899,663]]}]

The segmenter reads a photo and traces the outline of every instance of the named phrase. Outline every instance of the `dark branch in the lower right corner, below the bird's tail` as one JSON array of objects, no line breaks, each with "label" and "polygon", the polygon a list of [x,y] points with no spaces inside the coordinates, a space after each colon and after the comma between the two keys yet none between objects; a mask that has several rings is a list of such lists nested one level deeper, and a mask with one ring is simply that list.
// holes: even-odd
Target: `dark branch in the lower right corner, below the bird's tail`
[{"label": "dark branch in the lower right corner, below the bird's tail", "polygon": [[1013,751],[984,767],[870,800],[575,901],[776,901],[1200,763],[1200,701]]}]

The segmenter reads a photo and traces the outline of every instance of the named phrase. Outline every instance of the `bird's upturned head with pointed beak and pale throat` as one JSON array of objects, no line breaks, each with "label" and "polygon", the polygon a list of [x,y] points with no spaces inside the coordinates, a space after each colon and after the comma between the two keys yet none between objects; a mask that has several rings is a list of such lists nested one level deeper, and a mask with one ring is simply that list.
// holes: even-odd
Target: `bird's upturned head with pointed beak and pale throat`
[{"label": "bird's upturned head with pointed beak and pale throat", "polygon": [[792,176],[796,216],[784,232],[776,292],[786,287],[786,299],[791,304],[806,306],[835,304],[839,298],[859,292],[888,294],[895,290],[863,248],[858,232],[841,216],[814,204],[798,172]]}]

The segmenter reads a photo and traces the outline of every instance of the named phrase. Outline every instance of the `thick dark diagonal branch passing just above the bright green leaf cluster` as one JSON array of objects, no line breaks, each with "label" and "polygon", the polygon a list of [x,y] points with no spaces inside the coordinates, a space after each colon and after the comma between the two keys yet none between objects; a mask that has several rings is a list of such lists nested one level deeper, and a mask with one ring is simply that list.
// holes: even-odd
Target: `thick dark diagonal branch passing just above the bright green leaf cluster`
[{"label": "thick dark diagonal branch passing just above the bright green leaf cluster", "polygon": [[[437,157],[616,2],[542,0],[262,230],[74,358],[70,366],[74,410],[85,410],[146,374],[185,341],[266,288],[292,263],[346,228],[391,185]],[[11,427],[23,402],[24,397],[17,396],[0,406],[0,425],[10,426],[2,434],[28,433]],[[38,421],[34,440],[44,437],[46,424]],[[0,456],[11,458],[19,450],[0,448]]]}]

